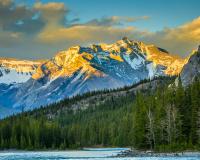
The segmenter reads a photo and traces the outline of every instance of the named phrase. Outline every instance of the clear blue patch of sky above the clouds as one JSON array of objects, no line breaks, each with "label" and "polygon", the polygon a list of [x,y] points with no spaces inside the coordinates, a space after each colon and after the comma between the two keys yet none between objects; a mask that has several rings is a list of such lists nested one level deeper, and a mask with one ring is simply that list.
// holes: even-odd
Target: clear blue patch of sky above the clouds
[{"label": "clear blue patch of sky above the clouds", "polygon": [[[35,0],[19,0],[33,5]],[[52,0],[41,0],[43,3]],[[71,10],[71,17],[88,21],[104,16],[150,16],[148,22],[135,22],[134,26],[151,31],[176,27],[200,15],[199,0],[54,0],[63,2]]]}]

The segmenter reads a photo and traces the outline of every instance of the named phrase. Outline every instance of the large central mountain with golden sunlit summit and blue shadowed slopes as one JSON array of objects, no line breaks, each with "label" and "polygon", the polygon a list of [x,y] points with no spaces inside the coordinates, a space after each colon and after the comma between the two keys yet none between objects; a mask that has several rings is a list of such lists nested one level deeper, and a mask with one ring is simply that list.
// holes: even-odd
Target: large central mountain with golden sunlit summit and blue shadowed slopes
[{"label": "large central mountain with golden sunlit summit and blue shadowed slopes", "polygon": [[[26,62],[32,74],[30,79],[22,78],[15,84],[1,83],[0,87],[1,106],[15,112],[89,91],[119,88],[156,76],[178,75],[187,60],[125,37],[114,44],[74,46],[42,63]],[[16,79],[18,76],[22,75],[16,75]]]}]

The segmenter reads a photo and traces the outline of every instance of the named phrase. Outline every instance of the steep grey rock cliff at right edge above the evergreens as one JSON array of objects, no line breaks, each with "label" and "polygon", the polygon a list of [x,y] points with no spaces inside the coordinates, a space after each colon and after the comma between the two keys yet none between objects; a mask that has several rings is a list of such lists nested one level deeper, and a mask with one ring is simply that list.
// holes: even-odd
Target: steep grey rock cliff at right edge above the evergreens
[{"label": "steep grey rock cliff at right edge above the evergreens", "polygon": [[191,55],[188,63],[183,67],[180,77],[183,86],[191,84],[195,77],[200,77],[200,46]]}]

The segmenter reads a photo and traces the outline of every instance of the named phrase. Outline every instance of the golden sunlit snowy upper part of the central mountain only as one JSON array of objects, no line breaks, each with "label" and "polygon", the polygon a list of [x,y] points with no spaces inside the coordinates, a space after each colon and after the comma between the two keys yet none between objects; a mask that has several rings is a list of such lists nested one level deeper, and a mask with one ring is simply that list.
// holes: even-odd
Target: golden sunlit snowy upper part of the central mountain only
[{"label": "golden sunlit snowy upper part of the central mountain only", "polygon": [[68,50],[57,53],[46,63],[41,64],[32,78],[37,80],[46,76],[49,80],[52,80],[70,77],[79,70],[86,73],[87,77],[92,75],[105,76],[106,73],[98,67],[102,67],[104,64],[109,66],[111,61],[116,64],[128,63],[135,70],[145,66],[147,62],[152,63],[147,67],[149,72],[152,73],[152,70],[162,66],[165,68],[163,74],[166,75],[179,74],[186,62],[184,59],[173,56],[154,45],[131,41],[125,37],[113,44],[102,43],[90,47],[70,47]]}]

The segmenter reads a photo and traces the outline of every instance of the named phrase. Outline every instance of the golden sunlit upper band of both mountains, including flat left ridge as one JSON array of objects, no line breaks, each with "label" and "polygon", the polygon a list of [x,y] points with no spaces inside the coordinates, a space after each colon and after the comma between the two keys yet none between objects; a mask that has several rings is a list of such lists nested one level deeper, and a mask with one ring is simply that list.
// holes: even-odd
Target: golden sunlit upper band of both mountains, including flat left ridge
[{"label": "golden sunlit upper band of both mountains, including flat left ridge", "polygon": [[[110,61],[115,61],[117,65],[129,64],[132,69],[138,69],[145,65],[145,61],[149,61],[149,78],[154,76],[155,69],[159,66],[163,67],[161,71],[163,74],[173,76],[180,73],[187,59],[174,56],[155,45],[146,45],[143,42],[124,38],[114,44],[70,47],[66,51],[57,53],[50,60],[28,61],[1,58],[0,82],[20,83],[29,78],[38,80],[45,76],[49,80],[55,80],[60,77],[70,77],[77,71],[87,73],[88,77],[93,75],[103,77],[106,73],[98,69],[98,66],[100,67],[103,63],[112,65]],[[16,78],[13,78],[14,76]],[[21,79],[18,79],[18,76],[21,76]]]}]

